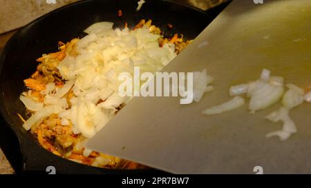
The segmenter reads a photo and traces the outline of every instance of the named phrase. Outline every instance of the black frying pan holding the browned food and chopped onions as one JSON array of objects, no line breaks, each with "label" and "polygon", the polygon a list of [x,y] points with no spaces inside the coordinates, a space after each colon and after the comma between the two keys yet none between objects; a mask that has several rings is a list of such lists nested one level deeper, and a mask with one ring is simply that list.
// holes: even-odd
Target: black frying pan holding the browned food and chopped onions
[{"label": "black frying pan holding the browned food and chopped onions", "polygon": [[[152,19],[153,23],[169,36],[184,34],[194,39],[227,3],[204,12],[172,1],[147,0],[142,9],[135,11],[138,0],[79,1],[59,8],[21,28],[8,41],[0,59],[0,110],[6,123],[1,120],[0,143],[17,173],[46,173],[46,167],[54,166],[63,174],[117,174],[155,173],[156,170],[100,169],[60,158],[42,148],[30,132],[21,127],[17,113],[25,115],[25,107],[19,95],[25,87],[23,79],[35,71],[41,54],[57,51],[57,41],[70,41],[82,37],[84,29],[98,21],[111,21],[114,27],[133,27],[140,19]],[[122,10],[123,16],[117,17]],[[167,24],[173,24],[170,30]]]}]

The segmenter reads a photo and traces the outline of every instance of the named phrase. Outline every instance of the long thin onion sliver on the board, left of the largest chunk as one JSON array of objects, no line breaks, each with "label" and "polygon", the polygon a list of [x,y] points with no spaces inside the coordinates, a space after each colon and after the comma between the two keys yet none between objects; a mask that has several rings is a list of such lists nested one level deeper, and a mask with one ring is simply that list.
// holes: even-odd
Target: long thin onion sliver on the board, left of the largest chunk
[{"label": "long thin onion sliver on the board, left of the largest chunk", "polygon": [[207,115],[221,114],[223,112],[227,112],[232,109],[241,107],[244,105],[244,103],[245,101],[241,96],[235,96],[234,98],[232,98],[230,101],[227,101],[226,103],[205,109],[202,113],[207,114]]}]

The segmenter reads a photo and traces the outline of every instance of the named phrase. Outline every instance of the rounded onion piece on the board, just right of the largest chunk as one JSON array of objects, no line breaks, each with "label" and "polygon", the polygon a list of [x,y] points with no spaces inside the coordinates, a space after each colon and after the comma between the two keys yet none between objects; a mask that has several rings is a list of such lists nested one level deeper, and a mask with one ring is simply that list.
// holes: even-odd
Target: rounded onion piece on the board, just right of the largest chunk
[{"label": "rounded onion piece on the board, just right of the largest chunk", "polygon": [[285,92],[282,103],[288,109],[292,109],[303,103],[303,90],[296,85],[288,84],[290,90]]}]

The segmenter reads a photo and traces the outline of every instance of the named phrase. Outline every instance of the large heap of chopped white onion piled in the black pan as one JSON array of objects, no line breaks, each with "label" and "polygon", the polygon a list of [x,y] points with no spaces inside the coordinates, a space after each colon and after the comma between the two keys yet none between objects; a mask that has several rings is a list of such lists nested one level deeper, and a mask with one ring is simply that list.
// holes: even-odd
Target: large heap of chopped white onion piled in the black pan
[{"label": "large heap of chopped white onion piled in the black pan", "polygon": [[[64,86],[52,90],[53,83],[49,83],[43,93],[46,107],[60,108],[58,115],[62,124],[70,122],[74,134],[91,138],[115,115],[117,107],[131,99],[117,96],[120,73],[129,72],[133,77],[134,65],[140,67],[140,72],[159,72],[175,58],[176,49],[169,43],[160,47],[161,35],[151,33],[147,26],[120,30],[113,29],[113,23],[100,22],[84,32],[88,35],[77,41],[77,56],[67,55],[57,66],[62,78],[67,80]],[[212,88],[205,84],[200,89],[207,92]],[[64,96],[70,90],[75,96],[70,99],[70,109],[66,110],[68,103]],[[26,122],[27,129],[52,111],[43,109]]]}]

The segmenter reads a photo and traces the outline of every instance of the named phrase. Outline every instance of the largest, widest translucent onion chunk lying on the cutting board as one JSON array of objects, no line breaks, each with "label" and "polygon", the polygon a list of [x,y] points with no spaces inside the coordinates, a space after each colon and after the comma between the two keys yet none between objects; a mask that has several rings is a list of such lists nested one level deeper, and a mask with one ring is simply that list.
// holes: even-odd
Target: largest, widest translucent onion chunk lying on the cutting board
[{"label": "largest, widest translucent onion chunk lying on the cutting board", "polygon": [[270,107],[270,105],[273,105],[282,98],[283,93],[284,88],[281,85],[272,85],[265,81],[257,81],[249,101],[249,109],[256,111]]}]

